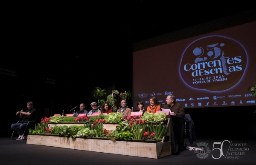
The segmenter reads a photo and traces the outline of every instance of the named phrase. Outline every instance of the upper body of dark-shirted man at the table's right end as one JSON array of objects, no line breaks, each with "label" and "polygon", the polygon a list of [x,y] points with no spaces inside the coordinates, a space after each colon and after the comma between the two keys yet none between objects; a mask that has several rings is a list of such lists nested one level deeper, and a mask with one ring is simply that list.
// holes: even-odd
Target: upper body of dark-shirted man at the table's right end
[{"label": "upper body of dark-shirted man at the table's right end", "polygon": [[167,104],[164,105],[164,109],[170,109],[171,115],[173,116],[181,116],[184,117],[185,116],[185,111],[182,107],[182,105],[180,105],[180,103],[175,102],[175,96],[170,94],[166,97],[166,102]]}]

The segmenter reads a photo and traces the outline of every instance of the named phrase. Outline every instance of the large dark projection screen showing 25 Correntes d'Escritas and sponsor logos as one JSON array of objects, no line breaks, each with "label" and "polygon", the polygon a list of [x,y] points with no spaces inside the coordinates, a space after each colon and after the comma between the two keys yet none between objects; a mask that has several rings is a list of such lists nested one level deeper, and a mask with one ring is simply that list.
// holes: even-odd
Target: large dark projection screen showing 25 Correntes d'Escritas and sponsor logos
[{"label": "large dark projection screen showing 25 Correntes d'Escritas and sponsor logos", "polygon": [[[256,21],[133,52],[134,107],[173,94],[183,108],[256,105]],[[136,109],[136,108],[135,108]]]}]

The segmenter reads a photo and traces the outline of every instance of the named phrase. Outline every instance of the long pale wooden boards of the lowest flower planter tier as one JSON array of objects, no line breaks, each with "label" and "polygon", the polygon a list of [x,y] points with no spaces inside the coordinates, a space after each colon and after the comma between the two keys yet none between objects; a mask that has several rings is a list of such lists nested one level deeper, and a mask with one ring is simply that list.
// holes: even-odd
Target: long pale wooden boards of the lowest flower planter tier
[{"label": "long pale wooden boards of the lowest flower planter tier", "polygon": [[52,147],[70,148],[75,150],[94,151],[109,154],[119,154],[128,156],[139,156],[158,159],[171,155],[171,142],[127,142],[101,139],[67,138],[56,136],[31,135],[27,137],[27,144],[46,145]]}]

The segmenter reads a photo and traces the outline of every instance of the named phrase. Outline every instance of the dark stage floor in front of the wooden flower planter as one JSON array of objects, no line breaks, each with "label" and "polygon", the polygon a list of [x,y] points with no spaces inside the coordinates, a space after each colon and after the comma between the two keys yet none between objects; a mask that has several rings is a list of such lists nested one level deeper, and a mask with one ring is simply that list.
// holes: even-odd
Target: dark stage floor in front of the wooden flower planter
[{"label": "dark stage floor in front of the wooden flower planter", "polygon": [[[223,142],[224,140],[228,140],[230,142],[225,141],[223,143],[222,151],[224,156],[220,157],[220,149],[217,148],[221,148],[221,144],[217,144],[217,142]],[[29,145],[26,144],[26,141],[12,140],[11,138],[0,138],[0,164],[18,165],[21,163],[26,165],[67,165],[86,163],[87,165],[94,165],[96,163],[101,163],[102,165],[193,165],[203,163],[204,165],[253,165],[255,163],[255,139],[236,140],[231,138],[201,138],[197,139],[193,145],[190,145],[189,139],[187,139],[187,146],[198,147],[197,143],[207,145],[208,148],[204,148],[204,153],[195,153],[194,151],[186,150],[178,155],[165,156],[160,159],[150,159],[135,156],[48,147],[42,145]],[[212,151],[213,144],[214,148],[216,148],[214,151]],[[215,158],[220,158],[213,159],[212,156]]]}]

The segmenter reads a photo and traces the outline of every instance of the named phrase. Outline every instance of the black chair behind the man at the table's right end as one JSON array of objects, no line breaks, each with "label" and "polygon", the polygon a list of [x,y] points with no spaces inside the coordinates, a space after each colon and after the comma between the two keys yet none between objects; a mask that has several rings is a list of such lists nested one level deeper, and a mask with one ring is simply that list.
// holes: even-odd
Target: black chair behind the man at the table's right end
[{"label": "black chair behind the man at the table's right end", "polygon": [[190,117],[189,114],[185,114],[184,126],[185,126],[185,128],[184,128],[184,134],[185,134],[184,144],[185,144],[185,147],[186,147],[186,131],[187,130],[189,131],[189,143],[190,143],[190,145],[192,145],[193,142],[196,140],[194,121],[192,120],[192,118]]}]

